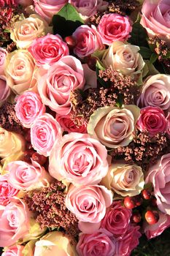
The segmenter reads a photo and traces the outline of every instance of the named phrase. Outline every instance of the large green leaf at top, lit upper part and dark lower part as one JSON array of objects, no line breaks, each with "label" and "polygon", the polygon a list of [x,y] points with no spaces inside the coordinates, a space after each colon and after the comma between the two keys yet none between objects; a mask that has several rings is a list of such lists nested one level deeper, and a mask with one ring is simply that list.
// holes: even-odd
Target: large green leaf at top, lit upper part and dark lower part
[{"label": "large green leaf at top, lit upper part and dark lower part", "polygon": [[72,4],[66,4],[56,15],[53,15],[54,34],[60,34],[61,37],[72,35],[82,24],[84,21]]}]

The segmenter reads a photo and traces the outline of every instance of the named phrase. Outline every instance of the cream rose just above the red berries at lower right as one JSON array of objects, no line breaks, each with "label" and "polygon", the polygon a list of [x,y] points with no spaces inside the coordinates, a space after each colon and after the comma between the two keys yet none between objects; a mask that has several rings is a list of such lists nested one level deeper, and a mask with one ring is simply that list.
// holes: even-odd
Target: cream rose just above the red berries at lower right
[{"label": "cream rose just above the red berries at lower right", "polygon": [[101,184],[123,197],[139,195],[144,187],[144,174],[138,165],[112,164]]}]

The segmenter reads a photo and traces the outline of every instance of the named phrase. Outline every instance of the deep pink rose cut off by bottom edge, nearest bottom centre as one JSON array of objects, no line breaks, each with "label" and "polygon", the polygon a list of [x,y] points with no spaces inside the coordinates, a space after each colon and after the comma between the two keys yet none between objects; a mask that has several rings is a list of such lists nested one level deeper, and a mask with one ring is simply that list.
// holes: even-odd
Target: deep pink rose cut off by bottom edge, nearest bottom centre
[{"label": "deep pink rose cut off by bottom edge, nearest bottom centre", "polygon": [[79,256],[113,256],[117,255],[117,241],[112,233],[101,228],[92,234],[80,233],[76,249]]}]

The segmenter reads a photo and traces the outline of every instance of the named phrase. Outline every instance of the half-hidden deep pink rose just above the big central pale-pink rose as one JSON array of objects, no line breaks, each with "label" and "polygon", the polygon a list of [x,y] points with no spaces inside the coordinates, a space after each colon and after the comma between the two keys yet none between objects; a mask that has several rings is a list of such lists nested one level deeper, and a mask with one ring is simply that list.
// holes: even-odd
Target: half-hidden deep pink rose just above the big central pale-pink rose
[{"label": "half-hidden deep pink rose just above the big central pale-pink rose", "polygon": [[61,125],[64,131],[66,132],[80,132],[87,133],[88,124],[85,121],[81,120],[81,117],[76,117],[75,121],[72,120],[72,113],[69,113],[66,116],[55,116],[58,123]]}]

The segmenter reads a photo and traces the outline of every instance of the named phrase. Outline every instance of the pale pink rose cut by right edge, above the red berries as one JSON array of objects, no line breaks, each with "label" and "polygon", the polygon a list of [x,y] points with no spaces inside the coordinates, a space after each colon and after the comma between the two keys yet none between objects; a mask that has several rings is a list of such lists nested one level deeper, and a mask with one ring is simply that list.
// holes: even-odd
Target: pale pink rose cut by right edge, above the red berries
[{"label": "pale pink rose cut by right edge, above the red berries", "polygon": [[149,168],[145,183],[153,184],[158,209],[170,215],[170,154],[165,154]]}]

